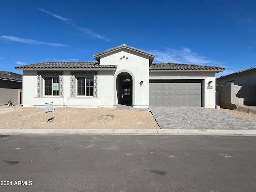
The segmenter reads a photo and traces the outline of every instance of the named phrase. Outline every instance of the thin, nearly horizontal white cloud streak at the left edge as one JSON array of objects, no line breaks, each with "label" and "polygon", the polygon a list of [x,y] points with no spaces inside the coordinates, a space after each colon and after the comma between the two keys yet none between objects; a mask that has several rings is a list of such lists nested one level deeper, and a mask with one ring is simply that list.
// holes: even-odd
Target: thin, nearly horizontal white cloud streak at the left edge
[{"label": "thin, nearly horizontal white cloud streak at the left edge", "polygon": [[50,45],[50,46],[66,47],[66,45],[64,45],[64,44],[46,43],[46,42],[41,42],[41,41],[38,41],[38,40],[25,39],[25,38],[19,38],[19,37],[14,37],[14,36],[6,36],[6,35],[0,36],[0,39],[8,40],[8,41],[14,41],[14,42],[20,42],[20,43],[26,43],[26,44],[44,44],[44,45]]}]

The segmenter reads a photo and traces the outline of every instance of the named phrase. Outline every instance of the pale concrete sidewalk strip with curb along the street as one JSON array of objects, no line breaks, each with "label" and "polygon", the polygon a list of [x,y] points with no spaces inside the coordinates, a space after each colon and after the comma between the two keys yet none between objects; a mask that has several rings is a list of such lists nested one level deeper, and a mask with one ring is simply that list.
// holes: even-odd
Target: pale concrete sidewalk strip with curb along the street
[{"label": "pale concrete sidewalk strip with curb along the street", "polygon": [[82,134],[82,135],[219,135],[256,136],[256,130],[209,129],[0,129],[0,135]]}]

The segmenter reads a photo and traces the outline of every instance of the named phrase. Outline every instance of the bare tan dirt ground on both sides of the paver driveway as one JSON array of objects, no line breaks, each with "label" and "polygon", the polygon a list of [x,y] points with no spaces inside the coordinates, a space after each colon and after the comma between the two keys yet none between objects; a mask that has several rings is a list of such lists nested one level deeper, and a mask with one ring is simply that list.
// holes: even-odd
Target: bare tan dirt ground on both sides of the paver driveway
[{"label": "bare tan dirt ground on both sides of the paver driveway", "polygon": [[[235,110],[217,111],[256,122],[256,106],[240,106]],[[159,129],[149,111],[54,108],[54,121],[47,122],[51,117],[52,112],[45,113],[45,108],[0,106],[1,129]]]}]

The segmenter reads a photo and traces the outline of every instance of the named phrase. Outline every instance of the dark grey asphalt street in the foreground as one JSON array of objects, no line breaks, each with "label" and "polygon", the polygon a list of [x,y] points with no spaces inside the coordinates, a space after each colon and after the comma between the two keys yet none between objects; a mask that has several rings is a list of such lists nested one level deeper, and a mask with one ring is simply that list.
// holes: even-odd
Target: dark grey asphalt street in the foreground
[{"label": "dark grey asphalt street in the foreground", "polygon": [[0,191],[252,192],[255,146],[255,136],[0,135]]}]

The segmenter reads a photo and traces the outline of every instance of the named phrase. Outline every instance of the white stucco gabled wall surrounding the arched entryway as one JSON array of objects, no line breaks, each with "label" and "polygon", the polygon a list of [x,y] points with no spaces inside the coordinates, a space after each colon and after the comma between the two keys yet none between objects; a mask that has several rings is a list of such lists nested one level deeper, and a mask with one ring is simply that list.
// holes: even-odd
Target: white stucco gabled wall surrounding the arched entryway
[{"label": "white stucco gabled wall surrounding the arched entryway", "polygon": [[[125,56],[125,57],[123,57]],[[122,59],[120,59],[122,58]],[[128,59],[126,59],[128,58]],[[121,49],[105,54],[100,57],[100,65],[117,65],[114,74],[114,105],[118,103],[116,94],[116,78],[122,72],[129,73],[132,78],[132,105],[134,107],[148,108],[148,70],[149,56],[134,52],[132,50]],[[144,81],[140,86],[140,82]]]}]

